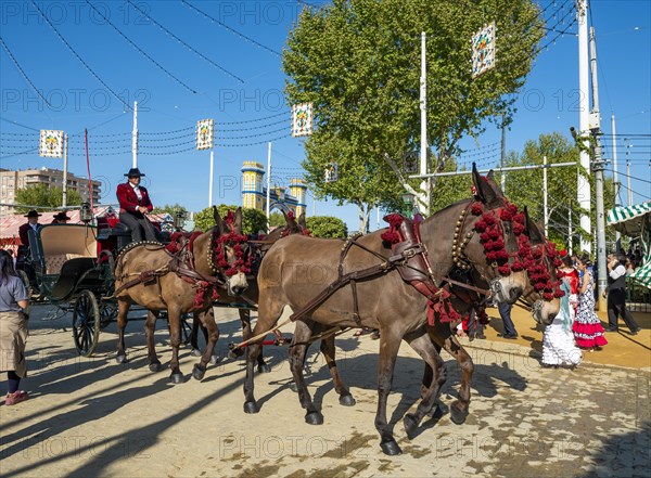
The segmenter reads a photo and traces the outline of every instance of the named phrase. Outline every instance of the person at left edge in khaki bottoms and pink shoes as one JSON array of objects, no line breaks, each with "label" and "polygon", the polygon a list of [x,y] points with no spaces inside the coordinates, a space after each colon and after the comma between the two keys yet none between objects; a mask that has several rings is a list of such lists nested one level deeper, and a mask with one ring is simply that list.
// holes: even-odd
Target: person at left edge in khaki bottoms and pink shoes
[{"label": "person at left edge in khaki bottoms and pink shoes", "polygon": [[27,375],[28,306],[27,287],[16,274],[9,253],[0,249],[0,372],[8,374],[5,405],[15,405],[29,398],[26,391],[18,389],[21,378]]}]

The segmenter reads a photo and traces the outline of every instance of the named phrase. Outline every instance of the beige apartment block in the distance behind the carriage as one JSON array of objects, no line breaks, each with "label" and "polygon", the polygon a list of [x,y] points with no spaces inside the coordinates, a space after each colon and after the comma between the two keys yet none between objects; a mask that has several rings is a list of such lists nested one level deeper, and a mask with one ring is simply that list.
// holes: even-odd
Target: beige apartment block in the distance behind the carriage
[{"label": "beige apartment block in the distance behind the carriage", "polygon": [[[63,188],[63,171],[42,167],[40,169],[11,170],[0,169],[0,214],[2,216],[14,214],[13,207],[4,206],[16,204],[16,191],[37,184],[46,188]],[[92,181],[92,201],[100,203],[102,183]],[[88,179],[67,173],[67,190],[77,191],[82,201],[89,201]]]}]

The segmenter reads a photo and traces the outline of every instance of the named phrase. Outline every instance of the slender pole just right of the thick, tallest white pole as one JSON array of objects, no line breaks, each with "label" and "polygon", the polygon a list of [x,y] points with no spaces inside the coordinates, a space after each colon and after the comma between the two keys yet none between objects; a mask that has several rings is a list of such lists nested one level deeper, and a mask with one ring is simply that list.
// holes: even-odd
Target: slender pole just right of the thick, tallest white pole
[{"label": "slender pole just right of the thick, tallest white pole", "polygon": [[590,28],[590,76],[592,78],[592,116],[597,125],[592,129],[595,137],[595,158],[592,168],[595,170],[595,203],[597,220],[597,294],[599,298],[599,310],[605,309],[603,293],[608,285],[605,269],[605,214],[603,206],[603,162],[601,160],[601,120],[599,117],[599,82],[597,80],[597,41],[595,39],[595,27]]}]

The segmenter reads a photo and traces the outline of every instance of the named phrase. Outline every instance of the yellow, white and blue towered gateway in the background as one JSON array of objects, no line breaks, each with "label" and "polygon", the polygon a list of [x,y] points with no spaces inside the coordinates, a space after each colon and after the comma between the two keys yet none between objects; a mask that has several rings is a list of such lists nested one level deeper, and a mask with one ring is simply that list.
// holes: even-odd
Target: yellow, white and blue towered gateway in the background
[{"label": "yellow, white and blue towered gateway in the background", "polygon": [[[264,181],[265,167],[257,162],[242,165],[242,206],[267,210],[267,188]],[[294,216],[307,212],[307,184],[302,179],[292,179],[289,188],[272,186],[269,191],[270,206],[282,203]]]}]

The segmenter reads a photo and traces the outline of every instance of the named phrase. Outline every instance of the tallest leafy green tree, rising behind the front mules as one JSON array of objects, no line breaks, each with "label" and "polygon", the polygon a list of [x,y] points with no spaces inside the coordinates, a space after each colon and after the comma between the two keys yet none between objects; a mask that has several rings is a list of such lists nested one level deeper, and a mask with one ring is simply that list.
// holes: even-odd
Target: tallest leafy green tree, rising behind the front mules
[{"label": "tallest leafy green tree, rising behind the front mules", "polygon": [[[497,66],[473,80],[470,40],[492,21],[499,33]],[[418,188],[395,158],[417,151],[420,141],[421,31],[427,35],[430,170],[442,171],[461,138],[482,133],[486,120],[502,115],[510,122],[541,26],[532,0],[334,0],[304,9],[283,67],[288,101],[314,103],[303,166],[317,197],[357,205],[363,231],[370,208],[399,203],[404,189]],[[326,182],[331,163],[339,180]]]}]

